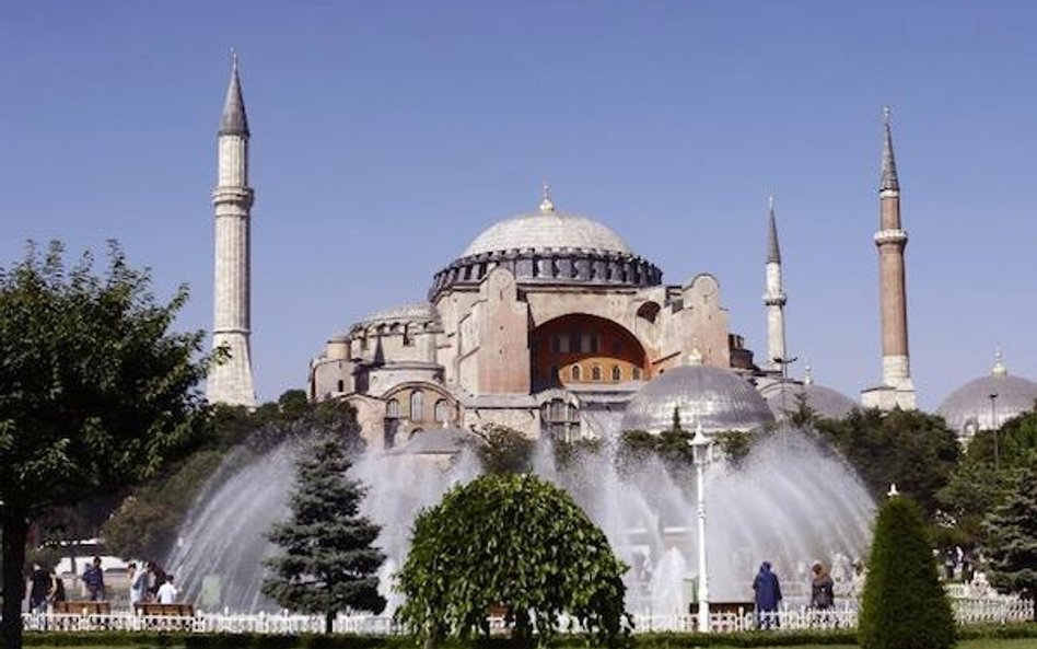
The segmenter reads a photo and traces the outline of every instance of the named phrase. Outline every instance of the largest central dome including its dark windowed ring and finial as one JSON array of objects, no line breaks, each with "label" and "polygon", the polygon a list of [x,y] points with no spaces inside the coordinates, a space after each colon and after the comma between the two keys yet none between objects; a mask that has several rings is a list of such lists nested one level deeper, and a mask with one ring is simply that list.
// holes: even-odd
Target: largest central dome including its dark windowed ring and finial
[{"label": "largest central dome including its dark windowed ring and finial", "polygon": [[557,211],[547,187],[539,210],[493,223],[436,273],[429,301],[435,303],[444,291],[474,289],[494,268],[504,268],[526,287],[642,288],[663,281],[663,273],[634,255],[609,228]]}]

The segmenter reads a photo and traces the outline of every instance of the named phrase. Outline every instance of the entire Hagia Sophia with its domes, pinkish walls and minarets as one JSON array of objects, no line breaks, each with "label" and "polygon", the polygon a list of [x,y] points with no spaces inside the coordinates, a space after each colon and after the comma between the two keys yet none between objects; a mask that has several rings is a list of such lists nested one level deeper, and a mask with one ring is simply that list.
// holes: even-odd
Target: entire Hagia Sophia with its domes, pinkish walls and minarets
[{"label": "entire Hagia Sophia with its domes, pinkish walls and minarets", "polygon": [[[248,121],[237,61],[219,130],[213,344],[231,360],[209,376],[211,402],[254,406],[249,357]],[[313,401],[357,408],[376,449],[423,432],[503,425],[536,438],[659,432],[683,421],[706,432],[751,430],[785,416],[800,395],[826,417],[855,407],[914,408],[910,373],[900,185],[886,114],[878,184],[882,379],[860,401],[785,376],[781,252],[771,200],[761,222],[766,349],[729,326],[721,282],[698,274],[666,283],[663,270],[599,220],[556,204],[497,221],[431,277],[424,302],[343,326],[311,360]],[[766,237],[764,236],[766,231]],[[954,391],[937,414],[963,439],[1029,410],[1037,383],[1010,375],[998,352],[987,376]]]}]

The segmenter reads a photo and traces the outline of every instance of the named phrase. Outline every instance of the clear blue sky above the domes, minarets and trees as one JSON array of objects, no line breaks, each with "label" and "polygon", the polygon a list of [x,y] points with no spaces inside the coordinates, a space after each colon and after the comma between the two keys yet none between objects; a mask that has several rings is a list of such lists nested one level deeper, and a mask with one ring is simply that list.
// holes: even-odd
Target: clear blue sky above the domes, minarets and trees
[{"label": "clear blue sky above the domes, minarets and trees", "polygon": [[[485,227],[593,216],[766,347],[777,196],[790,354],[881,376],[876,185],[894,111],[911,360],[935,408],[997,344],[1037,378],[1037,3],[50,2],[0,7],[0,264],[118,239],[211,324],[229,50],[253,132],[260,397]],[[802,372],[803,360],[792,373]]]}]

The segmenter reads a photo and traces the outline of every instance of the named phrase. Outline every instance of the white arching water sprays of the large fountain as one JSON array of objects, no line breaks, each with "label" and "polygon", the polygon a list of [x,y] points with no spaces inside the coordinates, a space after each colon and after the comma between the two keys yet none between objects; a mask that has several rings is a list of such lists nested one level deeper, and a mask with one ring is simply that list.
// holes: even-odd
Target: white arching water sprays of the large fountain
[{"label": "white arching water sprays of the large fountain", "polygon": [[[261,559],[272,552],[263,533],[286,515],[293,455],[294,445],[282,444],[199,499],[167,561],[188,600],[209,609],[276,610],[258,592]],[[562,471],[547,444],[538,448],[534,467],[573,495],[631,566],[631,612],[686,610],[697,543],[694,480],[675,478],[654,462],[621,478],[608,453]],[[389,559],[382,590],[392,610],[399,595],[389,576],[406,558],[416,512],[451,485],[477,476],[478,460],[465,451],[443,468],[421,456],[369,454],[353,472],[369,487],[366,515],[383,526],[378,544]],[[714,462],[706,494],[714,601],[751,600],[753,576],[764,559],[794,601],[807,590],[813,560],[836,564],[838,577],[866,549],[874,505],[852,470],[808,433],[770,433],[737,467]]]}]

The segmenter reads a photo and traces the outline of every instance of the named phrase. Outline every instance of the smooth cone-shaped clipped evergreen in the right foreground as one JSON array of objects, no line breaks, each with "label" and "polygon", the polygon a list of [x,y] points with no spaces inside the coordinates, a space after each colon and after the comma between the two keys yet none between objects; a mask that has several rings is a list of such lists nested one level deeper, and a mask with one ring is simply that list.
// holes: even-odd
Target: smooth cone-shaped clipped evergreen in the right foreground
[{"label": "smooth cone-shaped clipped evergreen in the right foreground", "polygon": [[878,511],[858,637],[864,649],[947,649],[954,614],[920,508],[888,498]]}]

